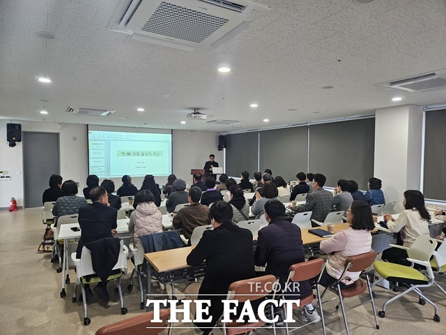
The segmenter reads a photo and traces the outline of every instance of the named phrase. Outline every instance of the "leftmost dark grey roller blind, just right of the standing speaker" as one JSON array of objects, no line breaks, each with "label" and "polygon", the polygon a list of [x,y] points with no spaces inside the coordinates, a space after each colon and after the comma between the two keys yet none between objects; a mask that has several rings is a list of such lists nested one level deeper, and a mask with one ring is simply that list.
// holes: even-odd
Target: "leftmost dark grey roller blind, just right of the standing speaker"
[{"label": "leftmost dark grey roller blind, just right of the standing speaker", "polygon": [[252,177],[258,168],[259,133],[227,135],[226,144],[226,174],[240,177],[247,170]]}]

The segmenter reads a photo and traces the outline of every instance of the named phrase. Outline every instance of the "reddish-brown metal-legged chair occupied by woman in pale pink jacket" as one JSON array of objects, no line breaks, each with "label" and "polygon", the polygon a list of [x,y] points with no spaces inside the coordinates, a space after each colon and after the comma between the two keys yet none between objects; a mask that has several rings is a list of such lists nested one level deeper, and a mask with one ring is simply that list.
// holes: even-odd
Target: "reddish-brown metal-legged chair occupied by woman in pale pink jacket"
[{"label": "reddish-brown metal-legged chair occupied by woman in pale pink jacket", "polygon": [[[346,316],[346,311],[344,309],[344,298],[356,297],[357,295],[364,293],[367,290],[367,288],[369,289],[371,307],[374,310],[376,329],[379,329],[378,318],[376,318],[376,308],[375,308],[373,292],[371,292],[371,285],[369,280],[369,271],[372,269],[374,265],[376,255],[378,254],[375,251],[369,251],[368,253],[362,253],[360,255],[348,257],[346,259],[345,268],[341,274],[341,278],[339,278],[338,281],[336,281],[336,283],[333,283],[332,285],[325,288],[325,290],[322,293],[321,299],[323,298],[327,290],[334,292],[339,297],[339,304],[341,305],[342,316],[344,317],[344,325],[346,326],[347,335],[350,333],[348,332],[347,316]],[[348,288],[341,288],[339,283],[344,279],[347,271],[351,272],[362,271],[362,274],[365,275],[366,283],[364,283],[364,281],[362,281],[361,278],[358,278],[357,281],[355,281],[355,283],[352,286]],[[339,308],[339,304],[336,306],[336,308]]]}]

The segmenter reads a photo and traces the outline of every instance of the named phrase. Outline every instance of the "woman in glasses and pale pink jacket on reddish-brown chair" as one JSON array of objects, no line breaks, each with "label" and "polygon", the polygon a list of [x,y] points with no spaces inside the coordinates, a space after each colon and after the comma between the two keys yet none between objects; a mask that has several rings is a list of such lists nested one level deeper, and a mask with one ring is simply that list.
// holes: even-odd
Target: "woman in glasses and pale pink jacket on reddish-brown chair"
[{"label": "woman in glasses and pale pink jacket on reddish-brown chair", "polygon": [[[375,225],[369,204],[364,201],[353,201],[351,207],[347,209],[347,222],[350,223],[350,228],[341,230],[329,239],[321,241],[321,251],[328,254],[320,281],[325,287],[341,278],[348,257],[371,251],[370,230],[374,230]],[[314,257],[309,258],[309,260],[312,259]],[[341,288],[353,285],[360,274],[360,272],[347,271],[345,278],[339,283]],[[298,317],[304,322],[320,320],[311,303],[302,308]]]}]

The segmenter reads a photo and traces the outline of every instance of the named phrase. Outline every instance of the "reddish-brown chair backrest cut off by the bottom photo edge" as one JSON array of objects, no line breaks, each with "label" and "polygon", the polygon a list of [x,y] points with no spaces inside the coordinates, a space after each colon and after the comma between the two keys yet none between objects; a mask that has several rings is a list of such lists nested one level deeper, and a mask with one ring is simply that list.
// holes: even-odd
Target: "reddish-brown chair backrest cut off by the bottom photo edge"
[{"label": "reddish-brown chair backrest cut off by the bottom photo edge", "polygon": [[161,322],[150,322],[153,320],[153,311],[148,313],[142,313],[134,316],[133,318],[127,318],[118,322],[114,322],[110,325],[104,326],[98,329],[95,335],[156,335],[167,328],[167,319],[169,319],[169,309],[160,309]]}]

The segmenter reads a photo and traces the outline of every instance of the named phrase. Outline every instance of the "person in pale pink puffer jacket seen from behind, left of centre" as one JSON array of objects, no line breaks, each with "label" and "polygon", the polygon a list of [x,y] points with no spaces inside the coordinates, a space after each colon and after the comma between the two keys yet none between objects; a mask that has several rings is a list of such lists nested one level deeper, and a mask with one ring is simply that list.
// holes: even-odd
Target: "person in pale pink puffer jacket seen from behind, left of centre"
[{"label": "person in pale pink puffer jacket seen from behind, left of centre", "polygon": [[136,210],[130,215],[128,231],[133,232],[135,248],[138,248],[139,236],[162,232],[162,214],[153,200],[155,197],[148,190],[139,191],[134,196],[133,206]]}]

